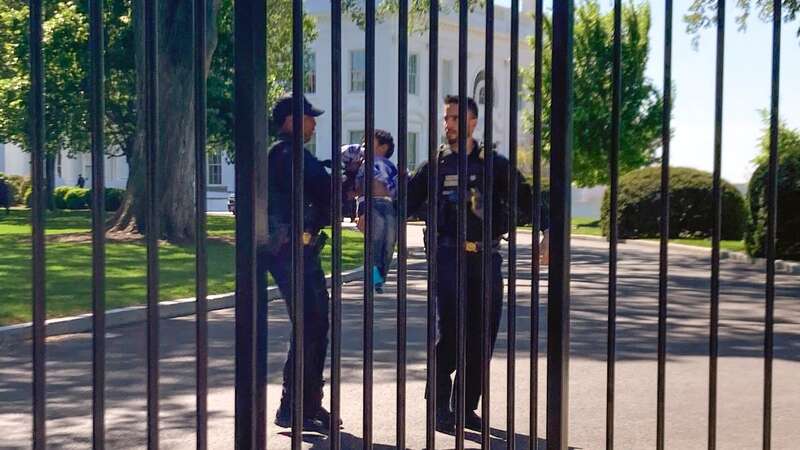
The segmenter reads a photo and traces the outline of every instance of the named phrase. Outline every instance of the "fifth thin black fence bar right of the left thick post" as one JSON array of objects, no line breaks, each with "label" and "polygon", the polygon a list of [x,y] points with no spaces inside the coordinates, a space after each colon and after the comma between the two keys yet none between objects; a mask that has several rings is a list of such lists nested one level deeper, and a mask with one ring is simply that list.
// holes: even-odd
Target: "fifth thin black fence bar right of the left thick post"
[{"label": "fifth thin black fence bar right of the left thick post", "polygon": [[436,448],[436,298],[438,292],[439,229],[439,0],[431,0],[428,12],[428,211],[426,236],[428,252],[428,332],[427,332],[427,415],[425,447]]}]

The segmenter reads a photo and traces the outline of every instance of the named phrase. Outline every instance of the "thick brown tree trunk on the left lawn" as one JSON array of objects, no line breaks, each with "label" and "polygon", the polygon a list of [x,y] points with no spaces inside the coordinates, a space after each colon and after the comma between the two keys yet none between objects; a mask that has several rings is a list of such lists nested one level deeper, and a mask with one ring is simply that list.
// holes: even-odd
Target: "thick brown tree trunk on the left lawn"
[{"label": "thick brown tree trunk on the left lawn", "polygon": [[[207,65],[217,45],[217,13],[220,0],[209,2],[207,11]],[[158,100],[156,200],[159,202],[159,238],[171,242],[192,241],[194,224],[194,77],[191,0],[158,2]],[[112,220],[116,231],[147,233],[145,225],[144,148],[144,2],[134,1],[136,41],[136,133],[126,152],[129,175],[125,199]]]}]

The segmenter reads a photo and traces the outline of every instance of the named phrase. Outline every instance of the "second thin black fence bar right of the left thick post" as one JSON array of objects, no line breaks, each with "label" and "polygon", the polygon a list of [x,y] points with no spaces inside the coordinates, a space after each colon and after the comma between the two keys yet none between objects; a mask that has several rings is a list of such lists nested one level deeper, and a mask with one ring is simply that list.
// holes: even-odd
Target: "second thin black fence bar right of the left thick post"
[{"label": "second thin black fence bar right of the left thick post", "polygon": [[331,157],[333,243],[331,249],[331,449],[342,445],[339,419],[342,373],[342,0],[331,1]]}]

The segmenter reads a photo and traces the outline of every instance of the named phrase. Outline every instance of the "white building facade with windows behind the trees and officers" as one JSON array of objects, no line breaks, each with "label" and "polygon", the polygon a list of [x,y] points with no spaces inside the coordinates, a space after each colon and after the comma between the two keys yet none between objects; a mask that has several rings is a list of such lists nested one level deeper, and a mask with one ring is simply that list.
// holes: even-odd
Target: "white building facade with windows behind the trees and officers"
[{"label": "white building facade with windows behind the trees and officers", "polygon": [[[308,148],[320,159],[331,157],[331,21],[330,3],[324,0],[307,0],[306,11],[316,18],[317,39],[310,45],[306,61],[306,96],[317,107],[326,111],[317,118],[316,133]],[[529,34],[532,25],[525,14],[521,15],[523,35]],[[494,50],[494,105],[487,108],[485,98],[485,16],[476,10],[470,14],[468,38],[467,92],[478,102],[480,118],[475,138],[483,140],[484,117],[487,111],[493,115],[493,140],[500,152],[508,153],[508,117],[510,109],[510,10],[495,8]],[[527,31],[526,31],[527,30]],[[397,142],[398,128],[398,20],[388,17],[376,26],[375,55],[375,127],[388,130]],[[408,165],[419,165],[428,155],[428,33],[414,32],[408,40]],[[526,42],[520,42],[520,66],[530,64],[530,50]],[[365,38],[347,15],[342,23],[342,143],[361,142],[364,135],[365,111]],[[458,93],[458,17],[453,13],[442,14],[439,25],[439,76],[438,76],[438,128],[442,135],[442,99],[447,94]],[[437,140],[441,140],[438,138]],[[520,135],[520,142],[530,142]],[[397,152],[394,159],[397,159]],[[91,155],[68,156],[66,152],[57,158],[56,185],[75,185],[79,175],[91,185]],[[13,144],[0,144],[0,172],[30,175],[30,155]],[[125,188],[128,166],[124,157],[107,157],[105,165],[106,185]],[[226,210],[227,197],[235,190],[234,167],[224,154],[208,157],[208,210]]]}]

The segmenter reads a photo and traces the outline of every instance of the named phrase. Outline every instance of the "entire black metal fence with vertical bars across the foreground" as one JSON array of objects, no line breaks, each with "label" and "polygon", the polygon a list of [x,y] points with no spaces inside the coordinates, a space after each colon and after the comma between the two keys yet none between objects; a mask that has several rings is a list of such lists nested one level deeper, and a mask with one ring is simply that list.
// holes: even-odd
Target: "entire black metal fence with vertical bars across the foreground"
[{"label": "entire black metal fence with vertical bars across the foreground", "polygon": [[[161,38],[157,32],[156,0],[144,1],[144,21],[146,24],[146,156],[147,156],[147,220],[148,230],[157,229],[157,196],[155,195],[155,174],[158,168],[157,146],[158,126],[160,120],[169,118],[158,117],[158,58],[157,42]],[[103,117],[104,117],[104,71],[103,71],[103,2],[90,0],[90,56],[91,56],[91,136],[92,136],[92,183],[95,192],[103,190]],[[397,446],[405,448],[405,437],[409,430],[406,429],[405,420],[405,388],[406,388],[406,279],[407,279],[407,245],[406,245],[406,170],[407,160],[407,62],[408,62],[408,1],[399,2],[399,60],[398,67],[398,98],[399,98],[399,202],[398,202],[398,290],[397,290]],[[197,219],[197,262],[196,262],[196,291],[197,291],[197,448],[207,447],[207,267],[206,267],[206,211],[205,211],[205,148],[206,148],[206,87],[203,68],[206,65],[205,52],[205,11],[206,0],[195,0],[194,8],[194,51],[195,51],[195,155],[196,155],[196,219]],[[237,0],[235,4],[235,146],[236,146],[236,193],[237,193],[237,220],[236,220],[236,396],[235,396],[235,445],[236,448],[264,448],[266,446],[266,336],[267,336],[267,309],[263,302],[258,302],[258,292],[265,289],[265,280],[261,274],[256,253],[266,239],[266,33],[269,32],[266,23],[266,8],[269,5],[263,1]],[[302,0],[293,2],[293,90],[301,92],[303,89],[303,59],[302,59]],[[469,5],[467,0],[459,0],[459,65],[458,65],[458,92],[459,104],[459,129],[466,129],[467,117],[467,19]],[[667,325],[667,252],[669,229],[667,220],[669,208],[669,153],[670,153],[670,105],[671,105],[671,44],[672,44],[672,1],[666,1],[665,23],[665,49],[664,49],[664,111],[663,111],[663,155],[662,155],[662,195],[661,195],[661,259],[659,273],[659,308],[658,308],[658,386],[657,386],[657,448],[664,448],[664,399],[665,399],[665,367],[666,367],[666,325]],[[717,404],[717,348],[719,325],[719,260],[720,260],[720,229],[721,229],[721,190],[720,190],[720,164],[721,164],[721,127],[722,127],[722,73],[724,46],[724,20],[725,1],[717,3],[717,84],[716,84],[716,122],[714,142],[714,230],[711,273],[711,320],[710,320],[710,373],[709,373],[709,427],[708,446],[716,446],[716,404]],[[542,158],[542,0],[535,0],[535,96],[534,96],[534,186],[533,186],[533,224],[534,233],[540,229],[541,215],[538,205],[541,202],[541,158]],[[437,283],[437,221],[438,221],[438,168],[437,168],[437,110],[439,91],[437,87],[438,74],[438,14],[439,3],[437,0],[430,2],[429,13],[429,39],[430,60],[429,74],[430,86],[428,87],[428,126],[431,132],[428,140],[428,155],[430,171],[428,173],[428,228],[427,242],[430,249],[427,277],[429,286]],[[333,211],[341,210],[341,164],[339,147],[341,144],[342,122],[342,93],[341,93],[341,68],[342,68],[342,3],[340,0],[331,1],[332,17],[332,155],[333,155]],[[617,244],[618,232],[616,221],[617,192],[618,192],[618,154],[620,148],[620,104],[621,104],[621,66],[625,63],[621,58],[621,1],[614,2],[614,64],[613,64],[613,121],[612,121],[612,148],[610,151],[610,198],[611,198],[611,226],[610,226],[610,270],[608,280],[608,366],[607,366],[607,411],[606,411],[606,447],[614,445],[614,379],[615,379],[615,337],[616,337],[616,297],[617,297]],[[372,136],[375,129],[375,3],[366,3],[366,136]],[[519,42],[519,0],[511,2],[511,84],[509,99],[511,102],[509,129],[510,132],[510,161],[512,167],[517,165],[518,105],[517,90],[518,80],[518,42]],[[764,332],[764,404],[763,404],[763,448],[770,448],[771,437],[771,405],[772,405],[772,359],[773,359],[773,325],[774,325],[774,298],[775,298],[775,227],[776,227],[776,191],[777,191],[777,129],[778,129],[778,88],[780,64],[780,26],[781,2],[773,1],[773,57],[772,57],[772,101],[771,101],[771,139],[770,139],[770,164],[769,164],[769,191],[768,191],[768,242],[767,242],[767,279],[765,303],[765,332]],[[565,449],[568,441],[568,378],[569,378],[569,342],[570,342],[570,185],[571,185],[571,145],[572,145],[572,28],[573,28],[573,2],[557,1],[553,6],[553,40],[552,40],[552,117],[551,117],[551,240],[550,240],[550,273],[548,290],[548,348],[547,348],[547,447],[550,449]],[[474,44],[473,44],[474,45]],[[31,64],[31,136],[33,176],[33,447],[44,449],[47,445],[45,432],[45,202],[43,191],[44,179],[44,72],[42,61],[42,0],[30,1],[30,64]],[[492,104],[493,80],[493,52],[494,52],[494,10],[493,3],[486,4],[486,92],[487,104]],[[300,96],[294,97],[294,157],[292,164],[293,185],[297,189],[292,195],[293,221],[291,233],[292,252],[292,289],[294,299],[292,308],[293,338],[297,345],[298,354],[303,349],[303,156],[301,151],[302,140],[301,120],[303,105]],[[492,116],[485,118],[485,142],[492,141]],[[465,148],[466,133],[460,133],[459,145]],[[366,164],[371,167],[373,163],[373,143],[366,140]],[[485,164],[485,189],[491,192],[493,183],[493,170],[491,158]],[[367,210],[371,210],[372,203],[372,172],[367,172],[366,202]],[[460,219],[458,222],[458,248],[464,248],[466,240],[466,174],[467,154],[460,152],[458,165],[458,199],[460,204]],[[512,177],[516,172],[512,170]],[[513,179],[513,178],[512,178]],[[511,186],[516,186],[512,182]],[[513,188],[515,189],[515,188]],[[517,193],[512,189],[510,202],[512,207],[511,223],[516,223]],[[492,209],[492,196],[487,196],[487,210]],[[105,242],[104,242],[104,199],[102,195],[92,197],[92,224],[93,224],[93,445],[94,448],[105,446]],[[366,239],[370,242],[373,235],[371,215],[366,215]],[[338,213],[333,220],[333,283],[332,283],[332,313],[331,313],[331,413],[333,424],[330,429],[332,448],[340,448],[341,436],[338,419],[341,415],[341,345],[342,345],[342,229],[341,218]],[[491,221],[486,221],[484,227],[484,248],[491,247]],[[147,234],[147,429],[148,448],[158,448],[158,415],[159,415],[159,367],[158,367],[158,247],[155,233]],[[508,435],[514,436],[515,424],[515,398],[514,398],[514,373],[516,354],[516,297],[517,297],[517,239],[513,227],[509,235],[509,287],[508,287],[508,398],[507,398],[507,427]],[[538,311],[539,305],[539,255],[538,239],[533,240],[532,258],[532,304],[533,311]],[[371,448],[373,440],[373,290],[372,267],[375,255],[372,254],[370,245],[364,247],[365,255],[365,283],[364,283],[364,397],[363,414],[364,429],[363,439],[365,447]],[[491,276],[488,271],[490,265],[490,252],[484,252],[484,278]],[[465,311],[466,311],[466,272],[465,252],[459,251],[456,262],[459,280],[459,313],[458,335],[458,367],[465,368]],[[485,283],[484,308],[491,308],[491,289]],[[434,373],[434,340],[436,336],[436,310],[435,289],[428,289],[427,308],[427,380],[432,388],[435,386]],[[530,386],[530,433],[531,448],[536,445],[537,430],[537,380],[538,380],[538,317],[532,315],[531,323],[531,386]],[[485,315],[488,317],[488,314]],[[489,322],[484,320],[485,335],[488,335]],[[488,339],[484,342],[484,354],[491,352]],[[303,371],[303,359],[295,358],[294,373]],[[489,367],[486,358],[483,367],[483,418],[484,424],[489,423]],[[293,433],[292,448],[299,449],[303,417],[301,376],[295,376],[293,385]],[[464,445],[464,383],[458,385],[456,402],[456,448]],[[427,397],[426,443],[427,448],[435,448],[435,417],[436,395],[431,392]],[[416,433],[422,430],[414,430]],[[485,425],[482,430],[483,442],[488,442],[489,427]],[[508,440],[508,448],[514,448],[513,439]]]}]

